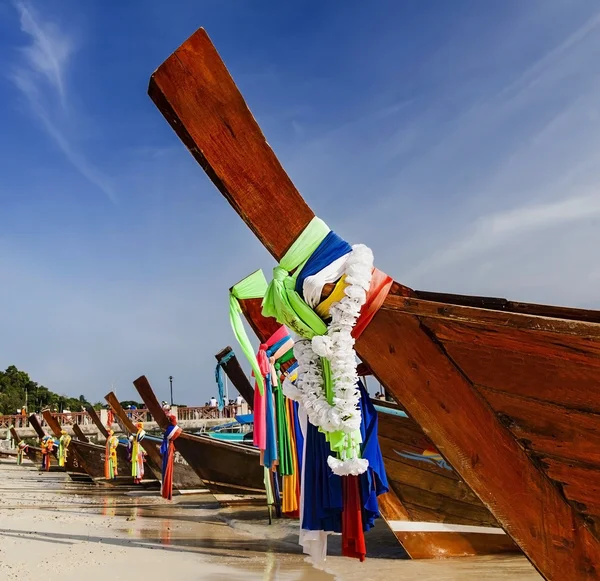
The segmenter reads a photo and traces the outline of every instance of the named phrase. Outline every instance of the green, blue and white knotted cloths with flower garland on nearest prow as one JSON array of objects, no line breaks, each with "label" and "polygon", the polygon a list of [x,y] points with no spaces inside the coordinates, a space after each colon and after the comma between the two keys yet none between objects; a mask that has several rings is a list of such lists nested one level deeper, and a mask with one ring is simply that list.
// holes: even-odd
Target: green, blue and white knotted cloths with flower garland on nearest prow
[{"label": "green, blue and white knotted cloths with flower garland on nearest prow", "polygon": [[[338,475],[365,472],[361,458],[360,408],[353,329],[367,303],[373,254],[350,246],[315,217],[273,270],[263,315],[293,329],[304,339],[294,347],[298,360],[299,401],[309,421],[326,434]],[[338,282],[326,309],[318,302],[325,284]],[[302,294],[301,294],[302,293]],[[323,318],[330,318],[329,325]]]}]

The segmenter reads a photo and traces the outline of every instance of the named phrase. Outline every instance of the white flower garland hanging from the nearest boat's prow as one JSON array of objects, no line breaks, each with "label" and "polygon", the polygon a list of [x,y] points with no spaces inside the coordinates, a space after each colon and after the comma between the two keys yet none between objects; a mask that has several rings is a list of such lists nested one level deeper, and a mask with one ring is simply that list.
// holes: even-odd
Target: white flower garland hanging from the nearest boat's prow
[{"label": "white flower garland hanging from the nearest boat's prow", "polygon": [[[358,407],[360,392],[352,329],[366,302],[373,275],[373,253],[363,244],[352,247],[344,268],[347,287],[345,296],[331,305],[331,322],[327,334],[312,341],[298,340],[294,355],[298,361],[298,381],[294,386],[284,382],[284,393],[301,403],[311,424],[325,432],[342,431],[348,438],[360,430],[361,413]],[[333,379],[333,403],[325,393],[321,357],[329,360]],[[362,458],[327,460],[335,474],[361,474],[369,463]]]}]

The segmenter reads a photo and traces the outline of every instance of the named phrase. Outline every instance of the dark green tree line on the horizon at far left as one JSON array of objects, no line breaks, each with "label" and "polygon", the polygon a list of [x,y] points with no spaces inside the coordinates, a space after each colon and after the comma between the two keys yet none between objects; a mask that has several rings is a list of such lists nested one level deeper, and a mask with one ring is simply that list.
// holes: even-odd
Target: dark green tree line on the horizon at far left
[{"label": "dark green tree line on the horizon at far left", "polygon": [[0,414],[16,414],[17,410],[25,406],[26,401],[28,414],[40,412],[44,408],[58,412],[65,409],[78,412],[89,405],[85,396],[67,397],[55,393],[32,381],[27,373],[19,371],[14,365],[0,371]]}]

